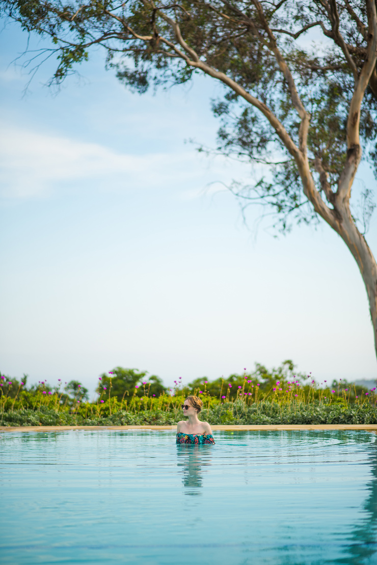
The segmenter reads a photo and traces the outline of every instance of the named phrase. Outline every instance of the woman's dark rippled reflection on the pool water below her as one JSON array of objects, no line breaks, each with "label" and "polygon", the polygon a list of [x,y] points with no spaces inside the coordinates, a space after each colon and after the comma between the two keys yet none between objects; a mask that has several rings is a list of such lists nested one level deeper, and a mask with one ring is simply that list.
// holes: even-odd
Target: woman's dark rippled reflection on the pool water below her
[{"label": "woman's dark rippled reflection on the pool water below her", "polygon": [[211,464],[210,446],[194,444],[177,444],[177,466],[182,467],[182,483],[185,494],[197,496],[202,494],[203,467]]}]

